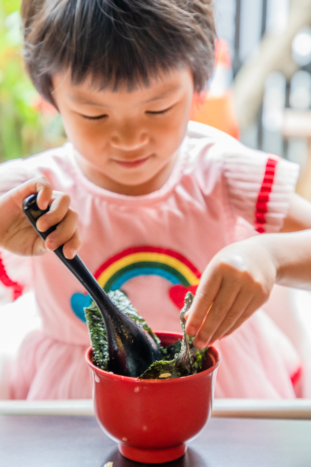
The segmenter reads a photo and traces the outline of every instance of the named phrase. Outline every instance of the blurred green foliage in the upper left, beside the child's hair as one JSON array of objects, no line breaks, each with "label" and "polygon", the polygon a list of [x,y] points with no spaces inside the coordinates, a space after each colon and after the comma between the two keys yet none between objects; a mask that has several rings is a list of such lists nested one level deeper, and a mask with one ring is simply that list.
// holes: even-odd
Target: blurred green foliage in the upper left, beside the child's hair
[{"label": "blurred green foliage in the upper left, beside the child's hair", "polygon": [[61,119],[44,103],[24,69],[21,0],[0,0],[0,162],[65,141]]}]

